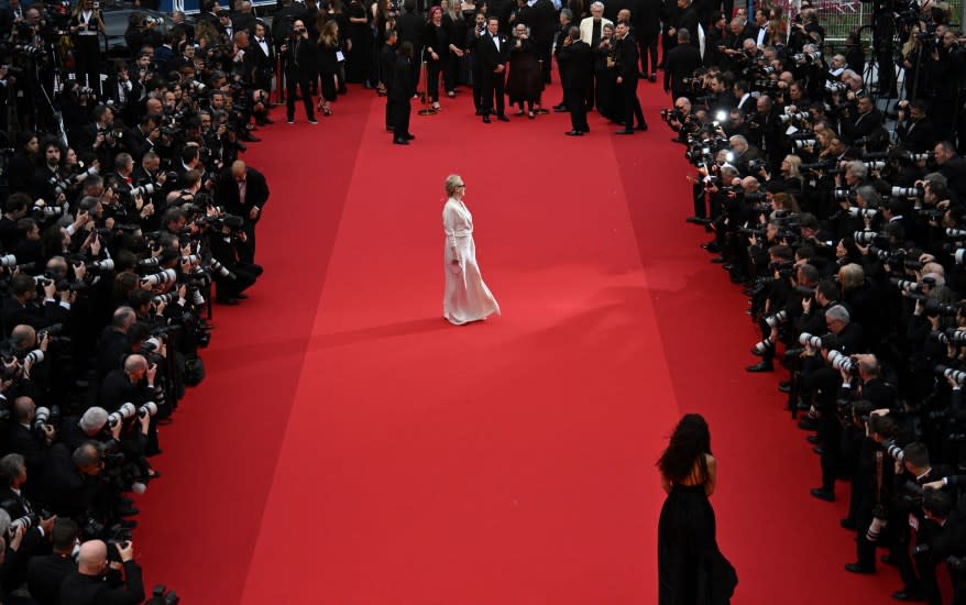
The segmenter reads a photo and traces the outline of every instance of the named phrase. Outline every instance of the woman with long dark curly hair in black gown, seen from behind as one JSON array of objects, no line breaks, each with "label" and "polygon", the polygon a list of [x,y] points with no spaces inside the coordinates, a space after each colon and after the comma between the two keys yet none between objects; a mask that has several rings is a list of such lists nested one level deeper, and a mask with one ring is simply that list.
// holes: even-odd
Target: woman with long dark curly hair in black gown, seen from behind
[{"label": "woman with long dark curly hair in black gown, seen from behind", "polygon": [[707,501],[717,464],[702,416],[681,418],[658,469],[668,493],[658,524],[659,605],[727,605],[738,578],[717,549]]}]

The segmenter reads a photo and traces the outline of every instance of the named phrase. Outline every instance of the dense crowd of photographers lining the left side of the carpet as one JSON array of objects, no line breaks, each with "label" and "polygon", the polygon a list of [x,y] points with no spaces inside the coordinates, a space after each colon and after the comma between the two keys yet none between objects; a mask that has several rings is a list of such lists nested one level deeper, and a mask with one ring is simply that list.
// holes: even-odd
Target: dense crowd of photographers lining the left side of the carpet
[{"label": "dense crowd of photographers lining the left side of the carpet", "polygon": [[145,600],[132,494],[204,378],[212,304],[238,305],[262,273],[268,187],[239,153],[271,122],[271,67],[244,53],[265,25],[230,34],[250,4],[204,6],[163,35],[133,13],[131,56],[95,55],[94,76],[78,55],[96,53],[80,40],[102,31],[96,3],[0,10],[4,604]]}]

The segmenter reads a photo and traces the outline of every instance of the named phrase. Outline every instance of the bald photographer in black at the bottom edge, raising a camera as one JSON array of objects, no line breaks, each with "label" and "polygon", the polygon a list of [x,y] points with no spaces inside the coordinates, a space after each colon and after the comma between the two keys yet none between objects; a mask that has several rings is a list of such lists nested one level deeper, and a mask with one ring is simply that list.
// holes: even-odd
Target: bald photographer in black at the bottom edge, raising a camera
[{"label": "bald photographer in black at the bottom edge, raising a camera", "polygon": [[[114,549],[116,556],[109,557]],[[123,572],[123,581],[119,574]],[[80,544],[77,569],[61,585],[62,605],[136,605],[144,601],[141,565],[128,541],[107,544],[89,540]]]}]

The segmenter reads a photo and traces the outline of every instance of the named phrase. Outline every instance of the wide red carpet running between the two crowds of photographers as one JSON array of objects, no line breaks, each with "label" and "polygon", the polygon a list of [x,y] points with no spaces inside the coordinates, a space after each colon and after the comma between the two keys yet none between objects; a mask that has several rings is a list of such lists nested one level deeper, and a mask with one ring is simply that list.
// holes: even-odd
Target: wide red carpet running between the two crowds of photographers
[{"label": "wide red carpet running between the two crowds of photographers", "polygon": [[[208,378],[162,433],[147,578],[205,604],[656,603],[654,462],[701,411],[734,603],[897,590],[843,571],[846,486],[809,497],[819,462],[777,377],[743,371],[754,327],[682,220],[657,91],[625,138],[596,116],[582,139],[566,114],[485,125],[462,94],[399,147],[358,89],[317,127],[260,131],[266,274],[218,308]],[[504,314],[464,328],[440,317],[453,172]]]}]

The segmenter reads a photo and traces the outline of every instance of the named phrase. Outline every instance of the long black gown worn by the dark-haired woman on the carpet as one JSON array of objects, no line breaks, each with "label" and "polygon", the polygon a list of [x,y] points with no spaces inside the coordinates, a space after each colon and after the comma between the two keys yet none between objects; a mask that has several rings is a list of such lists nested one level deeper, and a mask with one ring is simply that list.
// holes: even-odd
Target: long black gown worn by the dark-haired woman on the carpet
[{"label": "long black gown worn by the dark-haired woman on the carpet", "polygon": [[658,524],[659,605],[727,605],[738,583],[717,549],[704,485],[674,485]]}]

